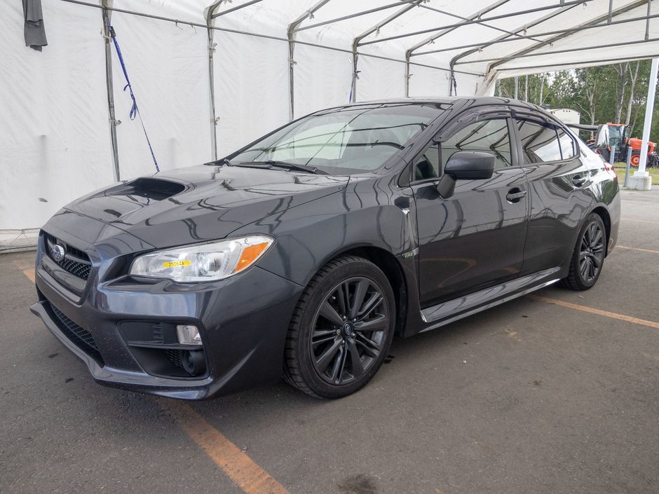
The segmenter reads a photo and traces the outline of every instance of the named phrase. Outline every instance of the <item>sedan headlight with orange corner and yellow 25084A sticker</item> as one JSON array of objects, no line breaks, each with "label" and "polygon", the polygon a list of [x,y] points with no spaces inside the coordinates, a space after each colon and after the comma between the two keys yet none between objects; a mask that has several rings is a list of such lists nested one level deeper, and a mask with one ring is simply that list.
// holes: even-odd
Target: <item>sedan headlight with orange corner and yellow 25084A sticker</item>
[{"label": "sedan headlight with orange corner and yellow 25084A sticker", "polygon": [[130,274],[178,282],[222,280],[252,266],[273,242],[266,235],[248,235],[152,252],[137,257]]}]

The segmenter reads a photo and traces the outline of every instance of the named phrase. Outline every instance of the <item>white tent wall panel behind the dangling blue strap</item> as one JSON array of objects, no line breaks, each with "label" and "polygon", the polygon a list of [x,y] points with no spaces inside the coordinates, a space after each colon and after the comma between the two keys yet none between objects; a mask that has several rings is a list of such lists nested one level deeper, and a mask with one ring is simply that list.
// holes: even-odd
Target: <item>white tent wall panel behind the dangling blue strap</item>
[{"label": "white tent wall panel behind the dangling blue strap", "polygon": [[[100,17],[101,12],[95,11]],[[203,163],[211,156],[208,36],[205,29],[115,12],[111,18],[140,116],[161,170]],[[155,172],[140,118],[112,48],[121,179]],[[104,87],[104,82],[101,88]],[[107,127],[107,126],[106,126]],[[107,129],[106,129],[107,132]]]}]

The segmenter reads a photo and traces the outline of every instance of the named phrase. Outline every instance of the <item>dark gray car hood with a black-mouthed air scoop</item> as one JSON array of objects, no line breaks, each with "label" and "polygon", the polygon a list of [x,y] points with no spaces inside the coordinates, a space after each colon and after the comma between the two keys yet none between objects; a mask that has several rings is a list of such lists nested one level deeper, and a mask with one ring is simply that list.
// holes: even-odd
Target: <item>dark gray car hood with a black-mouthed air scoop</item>
[{"label": "dark gray car hood with a black-mouthed air scoop", "polygon": [[199,165],[86,195],[65,210],[156,248],[224,238],[237,228],[342,190],[348,176]]}]

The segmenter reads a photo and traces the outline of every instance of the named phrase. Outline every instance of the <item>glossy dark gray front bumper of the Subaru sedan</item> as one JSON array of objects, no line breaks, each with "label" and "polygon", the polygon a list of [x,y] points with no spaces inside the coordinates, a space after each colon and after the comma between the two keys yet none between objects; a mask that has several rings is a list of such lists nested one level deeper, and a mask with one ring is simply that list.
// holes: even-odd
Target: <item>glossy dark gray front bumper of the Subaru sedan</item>
[{"label": "glossy dark gray front bumper of the Subaru sedan", "polygon": [[[229,394],[280,378],[287,328],[302,287],[258,266],[226,280],[147,284],[129,277],[99,280],[106,263],[93,263],[86,289],[75,294],[53,277],[39,242],[31,310],[64,346],[85,362],[100,384],[181,399]],[[101,266],[98,266],[99,264]],[[92,349],[67,324],[93,338]],[[130,345],[125,323],[195,324],[208,371],[198,378],[154,375]],[[92,341],[92,340],[90,340]],[[96,350],[96,351],[95,351]],[[148,371],[147,371],[148,370]]]}]

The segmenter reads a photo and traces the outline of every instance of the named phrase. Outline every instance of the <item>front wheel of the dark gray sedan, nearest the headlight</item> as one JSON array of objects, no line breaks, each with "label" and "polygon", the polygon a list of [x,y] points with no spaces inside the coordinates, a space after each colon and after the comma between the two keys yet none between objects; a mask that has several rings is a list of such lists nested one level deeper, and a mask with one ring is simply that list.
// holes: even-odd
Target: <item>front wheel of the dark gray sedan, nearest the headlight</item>
[{"label": "front wheel of the dark gray sedan, nearest the headlight", "polygon": [[357,256],[330,261],[309,282],[293,312],[284,379],[326,399],[360,390],[387,355],[395,318],[393,291],[377,266]]}]

